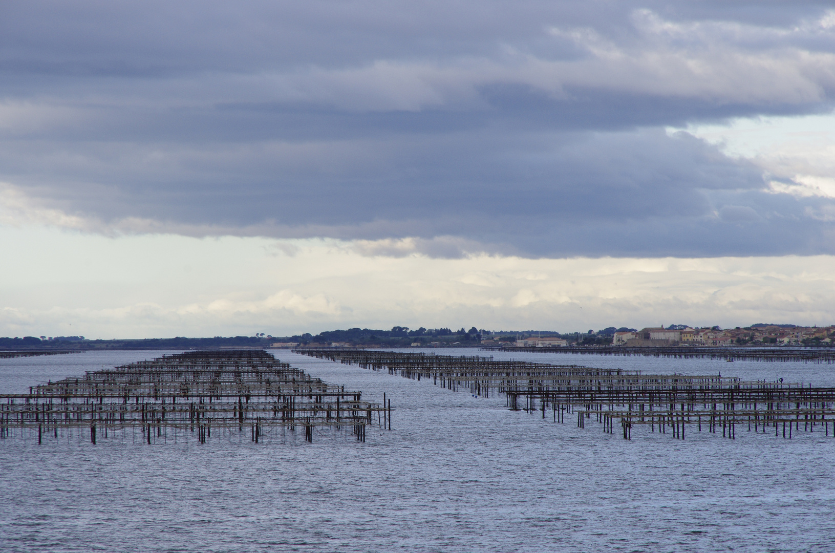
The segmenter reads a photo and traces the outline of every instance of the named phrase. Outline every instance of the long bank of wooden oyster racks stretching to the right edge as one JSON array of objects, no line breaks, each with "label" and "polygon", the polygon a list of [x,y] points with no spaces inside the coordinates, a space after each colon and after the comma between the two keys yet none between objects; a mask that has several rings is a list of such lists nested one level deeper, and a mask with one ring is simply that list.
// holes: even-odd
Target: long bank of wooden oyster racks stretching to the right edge
[{"label": "long bank of wooden oyster racks stretching to the right edge", "polygon": [[631,439],[633,426],[669,431],[684,439],[686,428],[736,438],[736,427],[792,438],[801,429],[823,429],[835,437],[835,388],[794,383],[745,382],[716,375],[643,374],[637,370],[601,369],[527,361],[497,361],[480,356],[444,356],[380,350],[301,348],[316,358],[405,378],[430,380],[450,390],[475,395],[504,394],[508,408],[553,410],[554,422],[576,413],[577,426],[592,416],[607,433],[620,428]]}]

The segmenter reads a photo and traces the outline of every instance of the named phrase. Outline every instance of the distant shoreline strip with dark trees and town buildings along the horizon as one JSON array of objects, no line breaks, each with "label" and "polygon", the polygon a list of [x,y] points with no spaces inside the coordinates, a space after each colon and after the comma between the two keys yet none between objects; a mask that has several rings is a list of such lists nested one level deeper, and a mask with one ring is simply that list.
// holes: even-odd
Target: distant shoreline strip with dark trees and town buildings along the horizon
[{"label": "distant shoreline strip with dark trees and town buildings along the horizon", "polygon": [[585,332],[494,331],[484,328],[349,328],[277,337],[258,332],[235,337],[173,337],[91,340],[83,336],[0,337],[0,350],[217,349],[217,348],[556,348],[624,346],[828,346],[835,325],[801,327],[757,323],[749,327],[689,327],[682,324],[636,329],[608,327]]}]

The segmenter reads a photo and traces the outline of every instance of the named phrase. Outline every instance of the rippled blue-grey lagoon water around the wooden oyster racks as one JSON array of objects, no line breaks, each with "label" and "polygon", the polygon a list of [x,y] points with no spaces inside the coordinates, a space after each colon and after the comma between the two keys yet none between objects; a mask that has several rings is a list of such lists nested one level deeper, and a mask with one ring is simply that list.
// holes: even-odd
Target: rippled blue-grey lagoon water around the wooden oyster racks
[{"label": "rippled blue-grey lagoon water around the wooden oyster racks", "polygon": [[[0,391],[161,353],[0,359]],[[281,430],[262,444],[0,442],[0,550],[835,551],[835,439],[822,432],[625,441],[504,398],[274,353],[364,399],[386,392],[392,431],[364,444]],[[493,355],[835,385],[835,365]]]}]

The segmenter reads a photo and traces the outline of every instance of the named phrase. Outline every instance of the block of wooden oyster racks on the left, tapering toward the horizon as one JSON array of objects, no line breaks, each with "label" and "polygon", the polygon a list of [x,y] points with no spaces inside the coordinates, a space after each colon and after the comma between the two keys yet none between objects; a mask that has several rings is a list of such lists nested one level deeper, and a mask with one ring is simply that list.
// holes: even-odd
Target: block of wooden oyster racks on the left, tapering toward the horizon
[{"label": "block of wooden oyster racks on the left, tapering toward the horizon", "polygon": [[[0,439],[45,437],[89,428],[90,442],[139,428],[143,441],[196,434],[204,444],[215,434],[245,426],[261,442],[272,428],[352,429],[365,440],[366,427],[391,428],[388,404],[362,400],[362,392],[322,382],[258,350],[200,351],[64,378],[0,396]],[[375,416],[376,415],[376,416]]]}]

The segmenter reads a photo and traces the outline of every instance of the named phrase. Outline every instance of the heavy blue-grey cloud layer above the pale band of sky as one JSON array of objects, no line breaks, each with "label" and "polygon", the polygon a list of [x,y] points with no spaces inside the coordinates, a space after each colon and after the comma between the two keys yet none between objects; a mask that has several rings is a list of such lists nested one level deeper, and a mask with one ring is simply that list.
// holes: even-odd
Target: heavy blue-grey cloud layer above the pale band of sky
[{"label": "heavy blue-grey cloud layer above the pale band of sky", "polygon": [[833,253],[831,199],[662,129],[831,109],[823,5],[0,9],[0,180],[91,228],[369,255]]}]

